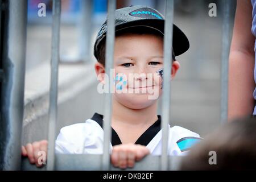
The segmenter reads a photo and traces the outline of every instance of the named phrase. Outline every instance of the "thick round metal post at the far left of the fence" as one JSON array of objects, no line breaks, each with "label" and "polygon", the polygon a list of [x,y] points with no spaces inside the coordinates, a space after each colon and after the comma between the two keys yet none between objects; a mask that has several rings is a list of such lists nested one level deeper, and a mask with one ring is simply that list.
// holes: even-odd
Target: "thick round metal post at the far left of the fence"
[{"label": "thick round metal post at the far left of the fence", "polygon": [[27,1],[5,3],[7,6],[4,7],[5,13],[2,14],[4,21],[1,22],[4,31],[1,32],[0,59],[3,68],[0,170],[19,170],[26,68]]}]

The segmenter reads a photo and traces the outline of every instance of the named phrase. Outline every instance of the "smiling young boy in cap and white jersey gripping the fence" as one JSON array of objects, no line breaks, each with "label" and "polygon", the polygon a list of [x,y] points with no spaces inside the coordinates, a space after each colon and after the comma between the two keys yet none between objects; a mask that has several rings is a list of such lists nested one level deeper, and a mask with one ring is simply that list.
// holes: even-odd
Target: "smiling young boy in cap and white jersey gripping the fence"
[{"label": "smiling young boy in cap and white jersey gripping the fence", "polygon": [[[94,44],[94,56],[97,59],[95,70],[98,80],[105,84],[104,86],[108,86],[104,83],[107,29],[105,22]],[[153,91],[160,96],[164,86],[160,76],[152,77],[152,74],[163,68],[163,33],[164,17],[150,7],[130,6],[115,10],[116,92],[113,93],[113,130],[110,144],[111,162],[115,167],[133,167],[135,161],[141,160],[147,154],[161,155],[161,117],[156,113],[158,97],[150,98],[150,94]],[[175,77],[180,68],[175,56],[184,53],[188,48],[187,37],[174,25],[170,79]],[[133,80],[137,84],[133,84]],[[102,154],[104,136],[102,122],[104,122],[103,116],[95,113],[85,123],[63,127],[56,139],[56,152]],[[200,140],[198,134],[179,126],[170,127],[169,138],[168,154],[170,155],[183,155],[193,143]],[[40,166],[38,151],[46,151],[46,149],[47,141],[43,140],[23,146],[22,154],[28,156],[31,163]]]}]

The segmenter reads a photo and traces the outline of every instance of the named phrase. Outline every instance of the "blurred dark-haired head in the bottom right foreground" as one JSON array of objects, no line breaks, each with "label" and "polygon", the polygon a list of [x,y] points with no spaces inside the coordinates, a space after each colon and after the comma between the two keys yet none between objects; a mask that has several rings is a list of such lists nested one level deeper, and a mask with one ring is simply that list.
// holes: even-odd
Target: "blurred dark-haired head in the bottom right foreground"
[{"label": "blurred dark-haired head in the bottom right foreground", "polygon": [[[216,152],[216,164],[209,159]],[[196,144],[181,161],[181,170],[256,169],[256,119],[243,118],[226,123]]]}]

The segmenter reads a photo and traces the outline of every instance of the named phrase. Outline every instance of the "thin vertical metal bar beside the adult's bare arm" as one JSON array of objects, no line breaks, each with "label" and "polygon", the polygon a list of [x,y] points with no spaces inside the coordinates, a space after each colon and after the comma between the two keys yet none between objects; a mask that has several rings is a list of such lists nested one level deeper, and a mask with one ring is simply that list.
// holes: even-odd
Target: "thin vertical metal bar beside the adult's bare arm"
[{"label": "thin vertical metal bar beside the adult's bare arm", "polygon": [[221,55],[221,122],[228,119],[228,72],[229,72],[229,48],[230,48],[230,1],[223,3],[222,22],[222,55]]}]

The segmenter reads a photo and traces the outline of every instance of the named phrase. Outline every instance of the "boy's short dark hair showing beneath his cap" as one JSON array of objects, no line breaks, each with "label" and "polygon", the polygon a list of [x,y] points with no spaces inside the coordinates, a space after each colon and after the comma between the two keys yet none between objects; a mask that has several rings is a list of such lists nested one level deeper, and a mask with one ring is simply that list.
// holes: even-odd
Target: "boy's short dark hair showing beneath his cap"
[{"label": "boy's short dark hair showing beneath his cap", "polygon": [[[125,28],[124,30],[116,31],[115,37],[122,36],[122,35],[129,35],[129,34],[134,34],[134,35],[149,34],[149,35],[160,36],[161,38],[163,38],[163,34],[161,32],[148,27]],[[98,52],[97,52],[97,57],[98,57],[97,61],[104,66],[105,66],[105,51],[106,51],[106,37],[101,40],[100,44],[98,45]]]}]

